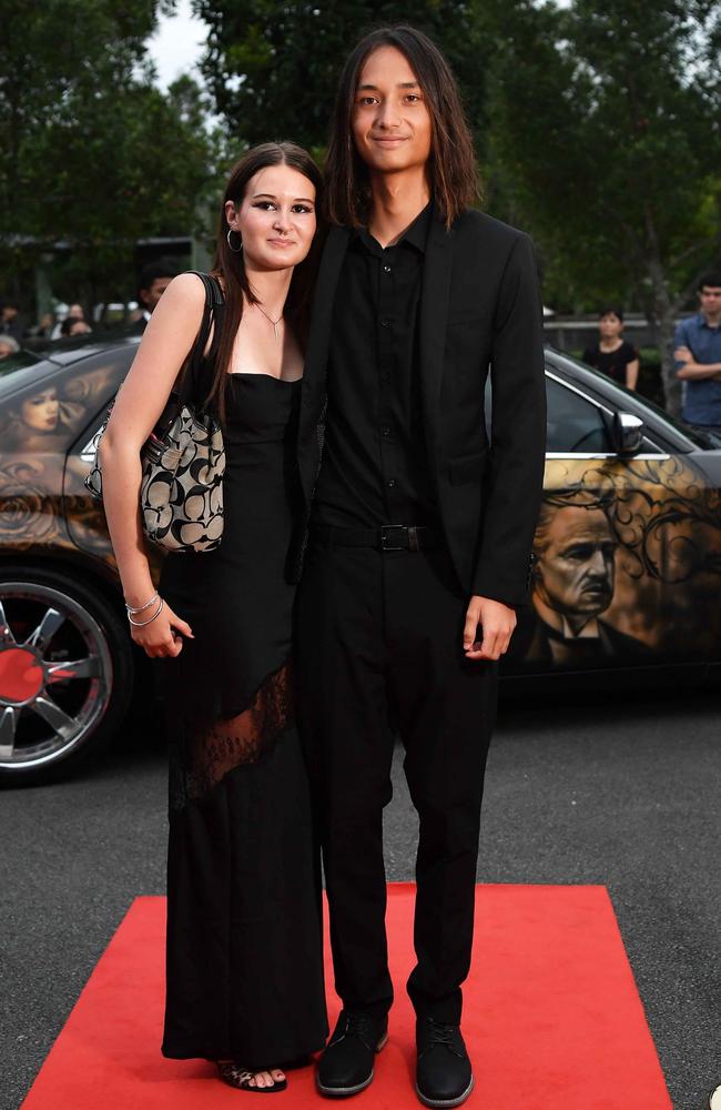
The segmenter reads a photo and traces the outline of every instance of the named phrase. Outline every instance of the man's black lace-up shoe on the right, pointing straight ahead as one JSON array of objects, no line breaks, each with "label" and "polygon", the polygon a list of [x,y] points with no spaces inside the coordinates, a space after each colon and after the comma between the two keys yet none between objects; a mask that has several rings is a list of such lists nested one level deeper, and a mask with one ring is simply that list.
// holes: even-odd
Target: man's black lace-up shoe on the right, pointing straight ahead
[{"label": "man's black lace-up shoe on the right, pointing straight ahead", "polygon": [[474,1074],[459,1026],[433,1018],[416,1022],[416,1094],[426,1107],[459,1107],[474,1089]]}]

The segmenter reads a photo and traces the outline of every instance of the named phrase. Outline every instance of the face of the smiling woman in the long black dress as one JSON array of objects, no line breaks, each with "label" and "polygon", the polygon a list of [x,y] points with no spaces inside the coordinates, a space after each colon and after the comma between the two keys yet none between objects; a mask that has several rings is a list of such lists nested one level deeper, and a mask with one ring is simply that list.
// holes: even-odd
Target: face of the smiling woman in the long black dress
[{"label": "face of the smiling woman in the long black dress", "polygon": [[225,215],[243,241],[246,265],[285,270],[303,262],[311,250],[315,185],[290,165],[268,165],[251,178],[237,206],[227,202]]}]

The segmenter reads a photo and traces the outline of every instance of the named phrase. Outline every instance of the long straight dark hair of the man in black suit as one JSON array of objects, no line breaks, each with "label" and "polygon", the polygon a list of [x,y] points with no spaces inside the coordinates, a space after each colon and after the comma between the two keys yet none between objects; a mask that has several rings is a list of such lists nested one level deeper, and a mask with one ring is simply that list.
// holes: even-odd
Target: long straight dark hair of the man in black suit
[{"label": "long straight dark hair of the man in black suit", "polygon": [[448,62],[415,27],[380,27],[352,50],[341,74],[325,165],[326,211],[331,223],[352,228],[366,222],[370,201],[368,170],[353,141],[353,110],[360,70],[378,47],[395,47],[407,59],[426,97],[431,120],[430,190],[447,226],[479,193],[470,130]]}]

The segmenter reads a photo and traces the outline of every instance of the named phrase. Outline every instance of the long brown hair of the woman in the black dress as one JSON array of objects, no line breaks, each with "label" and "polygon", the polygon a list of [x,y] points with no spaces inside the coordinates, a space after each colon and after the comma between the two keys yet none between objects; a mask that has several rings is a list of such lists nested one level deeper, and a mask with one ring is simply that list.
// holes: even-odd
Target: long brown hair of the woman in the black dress
[{"label": "long brown hair of the woman in the black dress", "polygon": [[[233,355],[235,335],[243,315],[243,299],[256,304],[258,297],[251,289],[245,272],[245,260],[242,253],[234,253],[227,242],[227,219],[225,205],[229,201],[240,204],[245,196],[247,183],[258,170],[268,165],[290,165],[302,173],[315,185],[316,211],[323,200],[323,176],[307,151],[292,142],[264,142],[252,147],[231,170],[223,201],[221,203],[217,242],[213,273],[222,280],[225,290],[225,311],[223,327],[217,346],[217,359],[213,375],[213,385],[207,401],[217,412],[221,421],[225,418],[225,395],[227,389],[227,372]],[[305,346],[311,310],[313,279],[317,269],[316,234],[308,255],[293,271],[288,296],[285,302],[285,314],[292,320],[301,346]]]}]

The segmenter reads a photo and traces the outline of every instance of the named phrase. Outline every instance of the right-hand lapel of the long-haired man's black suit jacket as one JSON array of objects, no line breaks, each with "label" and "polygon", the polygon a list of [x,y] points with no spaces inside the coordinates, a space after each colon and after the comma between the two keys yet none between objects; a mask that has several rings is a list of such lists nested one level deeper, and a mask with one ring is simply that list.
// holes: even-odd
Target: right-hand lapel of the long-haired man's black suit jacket
[{"label": "right-hand lapel of the long-haired man's black suit jacket", "polygon": [[426,442],[431,457],[437,446],[436,417],[446,349],[454,233],[454,229],[447,231],[444,221],[434,213],[424,259],[418,333]]}]

